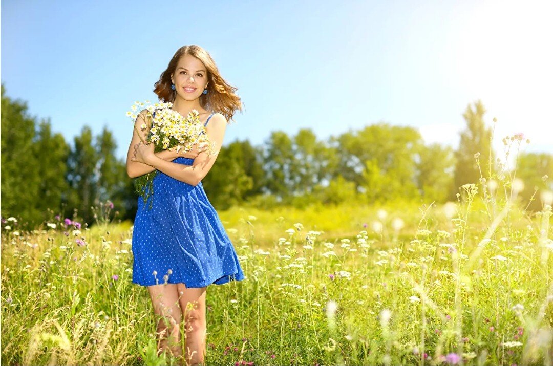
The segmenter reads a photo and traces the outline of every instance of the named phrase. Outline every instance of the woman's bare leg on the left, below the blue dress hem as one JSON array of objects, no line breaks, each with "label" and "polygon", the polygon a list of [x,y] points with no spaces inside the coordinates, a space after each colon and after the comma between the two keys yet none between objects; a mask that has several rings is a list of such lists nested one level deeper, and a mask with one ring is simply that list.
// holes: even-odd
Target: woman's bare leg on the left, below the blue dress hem
[{"label": "woman's bare leg on the left, below the blue dress hem", "polygon": [[158,354],[164,349],[168,349],[175,357],[181,357],[180,322],[182,312],[176,284],[148,286],[148,292],[157,321],[156,333],[159,333]]}]

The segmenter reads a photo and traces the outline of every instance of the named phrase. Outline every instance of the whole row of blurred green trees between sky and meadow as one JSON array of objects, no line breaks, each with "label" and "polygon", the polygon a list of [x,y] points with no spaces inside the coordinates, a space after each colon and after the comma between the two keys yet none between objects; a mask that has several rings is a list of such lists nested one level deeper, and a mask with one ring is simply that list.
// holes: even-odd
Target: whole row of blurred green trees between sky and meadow
[{"label": "whole row of blurred green trees between sky and meadow", "polygon": [[[97,207],[109,204],[116,218],[134,219],[138,198],[126,161],[114,155],[117,144],[107,127],[93,136],[90,127],[84,126],[68,143],[52,132],[49,119],[36,121],[29,116],[26,102],[6,96],[4,85],[1,93],[3,218],[17,216],[33,227],[56,214],[78,215],[91,224]],[[218,210],[233,205],[270,209],[315,202],[456,200],[461,185],[478,184],[480,171],[488,176],[488,170],[497,168],[484,113],[481,101],[467,106],[466,128],[457,150],[425,144],[413,127],[383,122],[327,140],[307,128],[295,135],[276,130],[258,146],[236,140],[222,147],[202,185]],[[129,129],[129,141],[130,134]],[[536,187],[544,188],[541,177],[553,176],[553,157],[524,153],[517,169],[525,182],[523,198],[530,200]],[[538,201],[531,202],[530,209],[541,208]]]}]

